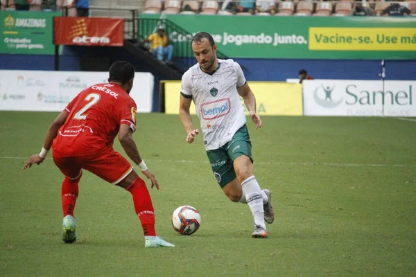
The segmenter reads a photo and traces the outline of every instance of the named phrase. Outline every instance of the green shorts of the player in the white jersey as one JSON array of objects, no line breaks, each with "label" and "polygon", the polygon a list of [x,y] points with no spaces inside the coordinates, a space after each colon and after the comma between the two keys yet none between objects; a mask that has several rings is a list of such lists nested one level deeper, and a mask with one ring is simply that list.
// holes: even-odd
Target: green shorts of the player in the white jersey
[{"label": "green shorts of the player in the white jersey", "polygon": [[236,178],[233,161],[245,155],[252,159],[250,135],[246,125],[243,125],[232,137],[231,141],[218,149],[208,150],[207,156],[218,184],[224,188],[226,184]]}]

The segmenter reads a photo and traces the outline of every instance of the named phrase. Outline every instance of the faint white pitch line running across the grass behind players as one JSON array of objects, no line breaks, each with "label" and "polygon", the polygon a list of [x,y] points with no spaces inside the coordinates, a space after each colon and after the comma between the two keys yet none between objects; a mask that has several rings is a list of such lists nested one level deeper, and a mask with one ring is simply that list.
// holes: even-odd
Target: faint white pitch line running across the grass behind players
[{"label": "faint white pitch line running across the grass behind players", "polygon": [[[15,159],[15,160],[26,160],[27,157],[0,157],[0,159]],[[51,159],[51,158],[49,158]],[[146,159],[146,161],[156,161],[163,163],[209,163],[208,161],[191,161],[191,160],[162,160],[162,159]],[[277,166],[370,166],[376,168],[414,168],[416,164],[383,164],[383,163],[288,163],[284,161],[254,161],[256,164],[261,165],[277,165]]]}]

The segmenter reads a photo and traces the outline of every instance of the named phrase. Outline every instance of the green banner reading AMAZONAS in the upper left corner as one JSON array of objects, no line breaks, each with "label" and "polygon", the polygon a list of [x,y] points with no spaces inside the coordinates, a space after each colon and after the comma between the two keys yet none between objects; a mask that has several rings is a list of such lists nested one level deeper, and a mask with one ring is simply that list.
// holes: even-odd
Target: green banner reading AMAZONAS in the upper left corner
[{"label": "green banner reading AMAZONAS in the upper left corner", "polygon": [[62,12],[0,11],[0,53],[53,55],[53,17]]}]

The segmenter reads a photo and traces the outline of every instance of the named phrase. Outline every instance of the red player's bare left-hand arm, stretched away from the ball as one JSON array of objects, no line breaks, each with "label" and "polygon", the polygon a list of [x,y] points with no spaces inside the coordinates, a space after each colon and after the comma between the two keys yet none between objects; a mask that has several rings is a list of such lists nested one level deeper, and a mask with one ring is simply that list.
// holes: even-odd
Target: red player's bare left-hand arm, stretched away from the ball
[{"label": "red player's bare left-hand arm, stretched away from the ball", "polygon": [[28,161],[23,166],[23,169],[31,168],[33,163],[36,163],[37,165],[40,165],[46,158],[46,154],[51,150],[53,140],[58,135],[59,128],[64,125],[65,121],[67,120],[68,112],[62,111],[59,116],[53,120],[51,125],[49,126],[48,132],[46,133],[46,137],[44,140],[44,145],[42,148],[42,152],[40,154],[34,154],[31,157],[29,157]]}]

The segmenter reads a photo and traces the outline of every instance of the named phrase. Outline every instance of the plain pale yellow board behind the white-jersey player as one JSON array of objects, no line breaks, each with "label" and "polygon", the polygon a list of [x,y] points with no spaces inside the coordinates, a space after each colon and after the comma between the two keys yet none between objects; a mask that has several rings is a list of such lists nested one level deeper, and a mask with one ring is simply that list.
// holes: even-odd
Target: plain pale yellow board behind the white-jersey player
[{"label": "plain pale yellow board behind the white-jersey player", "polygon": [[[165,113],[179,114],[180,82],[165,84]],[[264,116],[302,116],[302,85],[285,82],[248,82],[256,96],[257,113]],[[243,98],[241,98],[243,105]],[[243,105],[244,109],[245,106]],[[191,104],[191,114],[196,114]],[[247,109],[245,114],[248,115]]]}]

